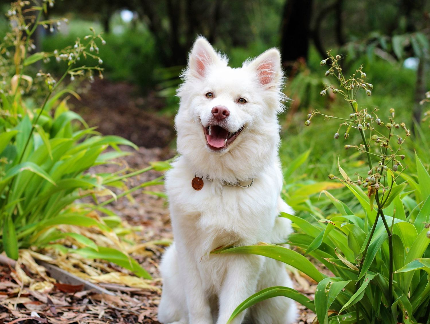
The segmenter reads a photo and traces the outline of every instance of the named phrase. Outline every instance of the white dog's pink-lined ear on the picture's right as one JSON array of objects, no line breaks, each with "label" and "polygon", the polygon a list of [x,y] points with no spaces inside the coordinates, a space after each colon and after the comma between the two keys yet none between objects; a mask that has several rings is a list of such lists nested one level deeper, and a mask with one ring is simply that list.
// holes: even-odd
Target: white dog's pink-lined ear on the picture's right
[{"label": "white dog's pink-lined ear on the picture's right", "polygon": [[255,71],[258,81],[267,87],[277,85],[282,79],[281,55],[275,48],[268,49],[248,64]]}]

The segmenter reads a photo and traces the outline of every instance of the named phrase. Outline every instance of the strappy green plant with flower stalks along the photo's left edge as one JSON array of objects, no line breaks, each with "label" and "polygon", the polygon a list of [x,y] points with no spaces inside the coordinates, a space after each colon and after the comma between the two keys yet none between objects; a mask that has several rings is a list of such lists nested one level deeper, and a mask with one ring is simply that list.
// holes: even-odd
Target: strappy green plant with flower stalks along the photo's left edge
[{"label": "strappy green plant with flower stalks along the photo's left edge", "polygon": [[[42,7],[32,7],[25,12],[22,2],[12,3],[9,18],[15,25],[0,44],[1,75],[4,87],[0,91],[0,252],[18,258],[20,248],[41,249],[55,246],[62,238],[72,238],[79,249],[60,248],[62,252],[80,253],[88,258],[105,259],[123,266],[144,278],[151,276],[138,263],[116,248],[100,246],[77,233],[63,232],[58,225],[77,225],[97,228],[106,236],[120,242],[114,229],[119,222],[112,222],[112,213],[104,206],[139,188],[160,184],[160,178],[114,194],[109,188],[126,188],[131,176],[153,167],[127,173],[92,174],[90,167],[107,164],[114,158],[129,153],[118,145],[136,146],[119,136],[101,136],[89,128],[78,114],[67,107],[66,95],[77,96],[71,89],[61,89],[65,77],[101,75],[102,68],[79,65],[80,58],[92,58],[101,63],[94,48],[104,43],[93,29],[83,40],[52,52],[28,56],[31,34],[37,25],[55,25],[58,19],[40,21]],[[31,24],[28,21],[32,19]],[[29,66],[40,59],[55,58],[65,63],[65,72],[55,79],[49,73],[39,72],[37,84],[25,74]],[[36,89],[35,89],[36,88]],[[45,89],[41,91],[40,89]],[[40,100],[38,97],[43,94]],[[78,124],[82,127],[79,127]],[[105,153],[107,147],[114,151]],[[154,164],[163,169],[166,164]],[[98,194],[110,194],[111,199],[97,201]],[[93,197],[94,204],[77,204],[84,197]],[[98,216],[97,211],[108,215]],[[109,217],[110,216],[110,217]],[[106,222],[104,221],[106,220]],[[114,225],[112,225],[114,224]]]}]

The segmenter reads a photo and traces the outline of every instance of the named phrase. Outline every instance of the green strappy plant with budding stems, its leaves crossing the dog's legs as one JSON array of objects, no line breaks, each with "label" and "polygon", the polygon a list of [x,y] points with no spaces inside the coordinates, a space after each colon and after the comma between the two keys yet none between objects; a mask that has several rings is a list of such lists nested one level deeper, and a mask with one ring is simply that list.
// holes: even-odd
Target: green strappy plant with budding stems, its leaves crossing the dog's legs
[{"label": "green strappy plant with budding stems, its leaves crossing the dog's legs", "polygon": [[[329,56],[327,61],[332,65],[326,73],[337,77],[340,87],[327,83],[321,95],[332,91],[343,97],[348,103],[347,112],[335,117],[312,111],[305,125],[309,126],[318,116],[337,120],[336,133],[339,135],[335,138],[349,139],[347,143],[350,144],[344,148],[355,150],[355,157],[356,154],[365,157],[366,168],[356,168],[354,175],[348,176],[339,162],[341,176],[329,175],[329,179],[340,180],[356,202],[322,191],[336,210],[324,215],[306,196],[317,192],[318,185],[320,190],[324,189],[326,183],[310,182],[295,190],[287,188],[287,201],[290,198],[294,202],[301,192],[304,197],[302,210],[307,208],[315,218],[304,219],[283,213],[281,216],[291,219],[297,231],[287,242],[279,242],[295,246],[305,255],[317,259],[333,276],[320,273],[312,262],[295,250],[275,244],[215,250],[213,253],[267,256],[292,265],[318,283],[314,300],[286,287],[261,290],[239,305],[230,320],[258,301],[286,296],[315,312],[321,324],[429,321],[430,175],[416,154],[415,158],[405,158],[411,152],[402,150],[402,144],[411,132],[404,123],[396,123],[398,117],[394,109],[390,109],[388,118],[384,119],[377,109],[367,108],[367,105],[363,105],[366,108],[359,107],[357,90],[370,96],[373,86],[367,82],[362,67],[351,78],[344,78],[338,64],[340,59],[340,56]],[[325,64],[326,60],[321,62],[321,65]],[[349,138],[353,132],[359,135],[361,144],[353,144],[358,140],[357,137]],[[308,155],[306,152],[290,164],[285,172],[287,179],[295,168],[305,163]],[[415,160],[416,167],[410,168],[413,170],[408,170],[407,160]]]}]

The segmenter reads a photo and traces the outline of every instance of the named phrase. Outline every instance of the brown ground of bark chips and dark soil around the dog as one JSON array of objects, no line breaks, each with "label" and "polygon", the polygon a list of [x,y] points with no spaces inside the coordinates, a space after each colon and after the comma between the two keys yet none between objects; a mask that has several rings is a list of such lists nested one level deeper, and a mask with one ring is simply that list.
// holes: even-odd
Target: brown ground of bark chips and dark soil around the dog
[{"label": "brown ground of bark chips and dark soil around the dog", "polygon": [[[89,123],[98,125],[104,135],[120,135],[139,146],[132,156],[118,162],[133,169],[147,167],[149,162],[166,160],[175,154],[172,118],[154,114],[163,102],[154,95],[139,96],[138,90],[127,83],[109,83],[98,80],[81,92],[81,101],[71,100],[73,109]],[[151,107],[148,109],[147,107]],[[124,148],[132,150],[131,148]],[[118,165],[98,166],[92,172],[114,172]],[[144,173],[133,179],[135,183],[160,176],[156,171]],[[151,191],[163,191],[162,186]],[[142,242],[172,240],[172,229],[166,201],[163,198],[132,194],[133,199],[120,198],[109,208],[131,225],[143,225],[139,237]],[[138,242],[138,243],[142,243]],[[143,290],[115,286],[115,296],[91,291],[71,292],[71,287],[55,284],[46,293],[24,288],[17,281],[15,269],[0,265],[0,323],[152,323],[157,324],[157,305],[160,301],[161,280],[158,271],[165,244],[147,247],[145,257],[137,259],[154,278],[151,289]],[[34,273],[22,267],[36,282],[41,281]],[[316,283],[292,269],[296,289],[313,299]],[[103,286],[103,285],[102,285]],[[312,323],[315,315],[299,305],[299,324]]]}]

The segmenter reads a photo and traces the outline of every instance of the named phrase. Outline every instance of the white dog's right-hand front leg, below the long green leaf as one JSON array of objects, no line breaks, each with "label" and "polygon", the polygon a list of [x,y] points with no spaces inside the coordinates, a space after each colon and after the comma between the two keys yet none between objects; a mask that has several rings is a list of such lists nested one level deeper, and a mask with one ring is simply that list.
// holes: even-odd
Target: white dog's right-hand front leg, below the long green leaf
[{"label": "white dog's right-hand front leg, below the long green leaf", "polygon": [[[219,294],[219,316],[217,324],[226,324],[234,309],[255,293],[263,258],[254,255],[225,256],[227,276]],[[237,315],[232,324],[240,324],[246,311]]]}]

